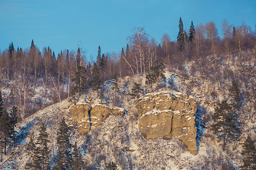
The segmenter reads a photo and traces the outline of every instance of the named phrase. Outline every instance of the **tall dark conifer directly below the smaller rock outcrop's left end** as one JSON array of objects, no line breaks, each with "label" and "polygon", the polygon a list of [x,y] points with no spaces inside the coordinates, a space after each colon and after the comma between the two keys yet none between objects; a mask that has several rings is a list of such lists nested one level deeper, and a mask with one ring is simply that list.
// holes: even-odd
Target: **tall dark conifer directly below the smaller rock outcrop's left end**
[{"label": "tall dark conifer directly below the smaller rock outcrop's left end", "polygon": [[70,134],[68,130],[68,125],[65,123],[65,118],[61,120],[57,135],[58,154],[55,162],[56,165],[53,167],[53,169],[71,169],[72,145],[70,144]]}]

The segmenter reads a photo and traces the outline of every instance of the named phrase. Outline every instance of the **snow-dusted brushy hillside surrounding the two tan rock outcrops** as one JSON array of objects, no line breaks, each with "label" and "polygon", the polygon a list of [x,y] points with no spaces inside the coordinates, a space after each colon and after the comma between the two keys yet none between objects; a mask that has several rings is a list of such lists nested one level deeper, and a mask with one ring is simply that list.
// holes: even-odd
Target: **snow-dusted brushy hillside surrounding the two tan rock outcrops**
[{"label": "snow-dusted brushy hillside surrounding the two tan rock outcrops", "polygon": [[[255,52],[254,52],[255,54]],[[210,60],[210,59],[209,59]],[[241,164],[241,150],[245,139],[250,135],[256,136],[255,96],[249,96],[255,92],[255,72],[253,62],[244,62],[238,65],[237,57],[230,60],[228,71],[223,63],[216,68],[214,64],[208,64],[208,68],[195,68],[198,63],[187,63],[185,70],[166,68],[166,81],[161,81],[159,86],[152,87],[145,83],[146,77],[139,77],[142,84],[142,93],[152,91],[176,91],[179,94],[188,94],[197,102],[196,140],[198,142],[198,154],[194,156],[186,149],[186,146],[177,137],[171,140],[156,138],[146,140],[139,132],[138,111],[135,108],[137,99],[129,94],[137,78],[124,77],[119,79],[119,91],[112,89],[112,81],[104,84],[103,96],[91,89],[84,92],[76,101],[84,100],[87,103],[97,103],[110,108],[124,108],[124,115],[110,115],[99,126],[92,127],[87,135],[80,135],[76,128],[70,130],[70,141],[77,142],[82,158],[87,169],[105,169],[108,162],[115,162],[119,169],[239,169]],[[226,61],[224,61],[226,62]],[[208,72],[208,74],[206,74]],[[228,88],[234,77],[228,78],[228,72],[235,73],[243,94],[240,122],[242,123],[241,137],[238,142],[230,142],[223,151],[221,143],[210,130],[213,124],[211,115],[216,103],[228,98]],[[213,78],[222,77],[221,79]],[[224,78],[223,78],[224,77]],[[247,77],[247,79],[245,79]],[[245,79],[245,80],[244,80]],[[253,87],[254,86],[254,87]],[[250,92],[251,91],[251,92]],[[46,123],[49,135],[49,147],[51,164],[57,154],[56,136],[60,120],[70,118],[69,108],[76,101],[70,98],[61,103],[55,103],[41,111],[34,113],[16,127],[17,144],[9,146],[6,155],[2,154],[1,169],[23,169],[28,155],[26,146],[29,137],[37,137],[41,123]]]}]

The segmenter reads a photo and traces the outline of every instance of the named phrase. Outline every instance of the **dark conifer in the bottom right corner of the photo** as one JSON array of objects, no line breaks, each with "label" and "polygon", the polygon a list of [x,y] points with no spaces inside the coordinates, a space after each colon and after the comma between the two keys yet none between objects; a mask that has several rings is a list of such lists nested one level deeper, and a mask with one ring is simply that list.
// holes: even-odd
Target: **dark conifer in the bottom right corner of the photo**
[{"label": "dark conifer in the bottom right corner of the photo", "polygon": [[249,136],[242,147],[243,165],[241,166],[241,169],[256,169],[255,142]]}]

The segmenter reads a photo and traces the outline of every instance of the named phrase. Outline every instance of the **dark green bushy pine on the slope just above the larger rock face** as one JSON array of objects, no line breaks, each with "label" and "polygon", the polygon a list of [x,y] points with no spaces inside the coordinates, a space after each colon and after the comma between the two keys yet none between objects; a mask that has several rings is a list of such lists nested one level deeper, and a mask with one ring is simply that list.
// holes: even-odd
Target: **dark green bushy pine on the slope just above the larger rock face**
[{"label": "dark green bushy pine on the slope just above the larger rock face", "polygon": [[162,61],[156,61],[154,66],[149,69],[149,73],[146,75],[146,84],[156,83],[159,86],[159,81],[166,79],[164,75],[164,63]]}]

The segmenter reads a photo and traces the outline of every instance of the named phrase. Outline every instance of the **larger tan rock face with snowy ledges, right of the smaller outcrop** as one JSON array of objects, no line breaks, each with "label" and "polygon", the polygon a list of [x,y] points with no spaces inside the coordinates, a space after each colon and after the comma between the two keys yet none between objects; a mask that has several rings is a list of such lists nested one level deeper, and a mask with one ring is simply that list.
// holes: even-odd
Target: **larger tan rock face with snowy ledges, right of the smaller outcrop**
[{"label": "larger tan rock face with snowy ledges, right of the smaller outcrop", "polygon": [[178,137],[191,154],[197,154],[195,118],[197,104],[184,94],[163,91],[139,98],[139,131],[147,140]]}]

